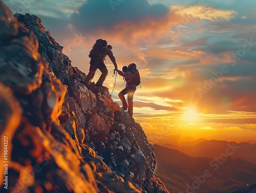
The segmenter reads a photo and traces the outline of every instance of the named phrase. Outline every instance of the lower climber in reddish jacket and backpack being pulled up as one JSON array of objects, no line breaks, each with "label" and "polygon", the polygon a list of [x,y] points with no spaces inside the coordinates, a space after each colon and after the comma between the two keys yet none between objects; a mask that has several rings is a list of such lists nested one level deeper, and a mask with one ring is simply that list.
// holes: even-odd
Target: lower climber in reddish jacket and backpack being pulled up
[{"label": "lower climber in reddish jacket and backpack being pulled up", "polygon": [[[133,96],[136,91],[136,86],[140,84],[140,74],[137,70],[135,63],[131,63],[128,67],[124,66],[122,71],[117,69],[119,75],[124,77],[126,82],[125,89],[123,89],[119,94],[119,98],[122,101],[122,109],[127,111],[130,115],[133,115]],[[127,94],[128,104],[124,98]]]}]

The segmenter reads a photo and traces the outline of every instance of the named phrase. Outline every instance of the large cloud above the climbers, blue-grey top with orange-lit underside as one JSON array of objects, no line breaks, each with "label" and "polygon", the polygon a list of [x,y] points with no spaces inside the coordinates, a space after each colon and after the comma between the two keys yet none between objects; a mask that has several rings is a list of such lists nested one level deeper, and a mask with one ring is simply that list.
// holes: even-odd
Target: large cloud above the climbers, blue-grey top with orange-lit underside
[{"label": "large cloud above the climbers, blue-grey top with orange-lit underside", "polygon": [[110,1],[88,0],[78,12],[70,21],[79,31],[90,34],[88,40],[101,37],[129,48],[144,68],[147,61],[139,45],[157,42],[180,18],[163,4],[151,5],[147,0],[123,1],[114,10]]}]

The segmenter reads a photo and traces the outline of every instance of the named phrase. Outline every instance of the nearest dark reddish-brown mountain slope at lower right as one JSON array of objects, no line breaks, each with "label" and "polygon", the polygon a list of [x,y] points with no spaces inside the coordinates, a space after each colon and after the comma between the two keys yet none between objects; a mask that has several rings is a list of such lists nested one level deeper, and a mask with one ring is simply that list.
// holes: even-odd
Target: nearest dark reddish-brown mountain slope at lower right
[{"label": "nearest dark reddish-brown mountain slope at lower right", "polygon": [[[212,141],[210,144],[216,145]],[[243,149],[243,145],[247,144],[242,143],[239,148]],[[223,145],[215,147],[220,148]],[[217,151],[209,151],[212,155],[208,153],[208,156],[217,155],[220,158],[210,159],[193,158],[176,149],[156,144],[154,148],[157,158],[155,172],[174,193],[255,193],[253,188],[256,182],[256,164],[226,157],[225,151],[220,151],[219,155]]]}]

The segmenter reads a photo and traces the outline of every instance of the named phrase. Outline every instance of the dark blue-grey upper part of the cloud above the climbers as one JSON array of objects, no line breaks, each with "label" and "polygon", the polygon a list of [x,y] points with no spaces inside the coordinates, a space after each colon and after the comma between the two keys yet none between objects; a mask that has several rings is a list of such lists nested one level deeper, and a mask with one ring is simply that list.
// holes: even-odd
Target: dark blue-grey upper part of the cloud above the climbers
[{"label": "dark blue-grey upper part of the cloud above the climbers", "polygon": [[[98,29],[113,31],[120,24],[124,24],[122,27],[126,26],[126,28],[141,28],[148,25],[148,28],[150,28],[154,25],[154,22],[158,22],[169,12],[164,5],[150,5],[146,0],[130,0],[120,4],[117,3],[118,6],[114,10],[110,2],[88,0],[78,9],[79,14],[74,13],[72,15],[71,20],[88,31]],[[152,23],[147,23],[146,19],[149,19],[147,22],[151,20]]]}]

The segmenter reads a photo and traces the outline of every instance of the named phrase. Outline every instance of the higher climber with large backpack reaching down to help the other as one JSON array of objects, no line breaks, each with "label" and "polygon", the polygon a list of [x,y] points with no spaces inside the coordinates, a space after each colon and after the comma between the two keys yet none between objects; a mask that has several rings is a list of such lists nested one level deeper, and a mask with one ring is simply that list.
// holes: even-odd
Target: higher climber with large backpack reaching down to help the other
[{"label": "higher climber with large backpack reaching down to help the other", "polygon": [[117,69],[117,63],[116,59],[112,52],[112,46],[108,45],[108,41],[103,39],[97,39],[94,46],[92,47],[89,57],[90,59],[90,69],[89,73],[84,80],[84,85],[88,85],[91,83],[91,80],[93,79],[96,70],[99,69],[102,73],[96,82],[97,87],[102,87],[102,84],[104,80],[106,79],[106,76],[108,76],[108,69],[106,68],[104,61],[106,56],[110,57],[110,60],[113,62],[115,69]]}]

